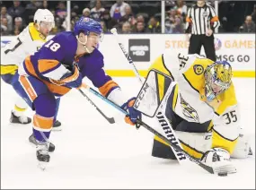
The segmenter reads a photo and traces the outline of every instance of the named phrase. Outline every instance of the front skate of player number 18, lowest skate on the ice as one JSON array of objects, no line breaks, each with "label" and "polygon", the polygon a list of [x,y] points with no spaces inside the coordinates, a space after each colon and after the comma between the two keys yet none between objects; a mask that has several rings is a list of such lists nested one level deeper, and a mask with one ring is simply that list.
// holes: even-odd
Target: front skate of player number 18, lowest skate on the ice
[{"label": "front skate of player number 18, lowest skate on the ice", "polygon": [[39,160],[39,168],[44,170],[49,163],[48,142],[37,142],[37,159]]}]

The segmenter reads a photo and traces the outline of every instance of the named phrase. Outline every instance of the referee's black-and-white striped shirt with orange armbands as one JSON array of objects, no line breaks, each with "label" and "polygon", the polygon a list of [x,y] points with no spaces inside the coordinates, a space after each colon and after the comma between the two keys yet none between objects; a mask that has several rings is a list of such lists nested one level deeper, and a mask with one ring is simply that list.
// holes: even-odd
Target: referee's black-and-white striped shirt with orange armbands
[{"label": "referee's black-and-white striped shirt with orange armbands", "polygon": [[215,10],[209,4],[205,4],[202,7],[195,4],[188,11],[186,33],[191,32],[194,35],[206,34],[207,29],[214,30],[219,25]]}]

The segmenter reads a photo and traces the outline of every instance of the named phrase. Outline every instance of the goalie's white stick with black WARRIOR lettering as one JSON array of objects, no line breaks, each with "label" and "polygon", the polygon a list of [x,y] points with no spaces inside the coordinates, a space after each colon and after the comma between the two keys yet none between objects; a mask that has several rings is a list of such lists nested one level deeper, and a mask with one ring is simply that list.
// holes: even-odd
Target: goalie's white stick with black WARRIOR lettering
[{"label": "goalie's white stick with black WARRIOR lettering", "polygon": [[[139,81],[141,84],[143,84],[144,82],[141,80],[140,75],[139,75],[139,73],[138,73],[138,71],[137,71],[137,68],[136,68],[136,66],[134,65],[134,63],[133,63],[131,57],[128,55],[128,51],[124,48],[123,44],[122,44],[122,43],[120,42],[120,40],[119,40],[119,34],[118,34],[118,32],[117,32],[117,29],[116,29],[116,28],[113,28],[113,29],[110,30],[110,32],[111,32],[111,33],[115,36],[115,38],[117,39],[117,41],[118,41],[118,43],[119,43],[119,47],[121,48],[121,50],[122,50],[124,56],[126,56],[126,58],[127,58],[127,60],[128,60],[128,63],[129,63],[130,65],[133,65],[133,67],[132,67],[132,68],[133,68],[133,72],[136,74],[138,81]],[[152,87],[150,87],[150,88],[153,89]],[[153,89],[153,90],[154,90],[154,89]],[[166,99],[166,100],[167,100],[167,99]],[[162,105],[163,105],[163,104],[162,104]],[[160,107],[163,107],[163,106],[160,106]],[[160,112],[159,112],[159,113],[160,113]],[[175,138],[175,141],[176,141],[176,142],[178,143],[178,145],[181,147],[181,142],[180,142],[179,139],[177,138],[177,135],[174,133],[174,130],[172,129],[172,124],[170,124],[170,123],[168,122],[167,118],[166,118],[163,114],[162,114],[161,117],[163,117],[163,122],[166,123],[166,125],[163,126],[163,125],[161,124],[161,122],[160,122],[159,119],[157,120],[157,122],[158,122],[159,125],[162,126],[164,133],[165,133],[166,135],[172,134],[173,138]],[[171,146],[171,148],[172,148],[172,146]],[[175,154],[177,160],[179,160],[179,163],[184,164],[185,161],[186,161],[186,157],[185,157],[184,155],[182,155],[182,153],[175,151],[173,148],[172,148],[172,151],[174,152],[174,154]]]}]

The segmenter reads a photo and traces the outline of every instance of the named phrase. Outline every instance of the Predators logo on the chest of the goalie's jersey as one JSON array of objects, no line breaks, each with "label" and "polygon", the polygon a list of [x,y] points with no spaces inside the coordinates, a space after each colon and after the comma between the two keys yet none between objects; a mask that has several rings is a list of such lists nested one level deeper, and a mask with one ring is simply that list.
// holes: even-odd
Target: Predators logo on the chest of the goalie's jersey
[{"label": "Predators logo on the chest of the goalie's jersey", "polygon": [[[180,94],[180,96],[181,96],[181,94]],[[182,98],[182,96],[181,96],[181,107],[182,107],[183,115],[185,117],[187,117],[189,121],[199,123],[199,115],[198,115],[197,111],[194,108],[190,107],[188,102],[186,102]]]}]

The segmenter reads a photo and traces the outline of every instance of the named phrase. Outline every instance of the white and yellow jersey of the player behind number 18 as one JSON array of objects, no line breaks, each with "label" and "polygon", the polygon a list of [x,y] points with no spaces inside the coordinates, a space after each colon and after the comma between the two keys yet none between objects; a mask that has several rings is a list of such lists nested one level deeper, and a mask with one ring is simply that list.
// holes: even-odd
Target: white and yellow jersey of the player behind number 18
[{"label": "white and yellow jersey of the player behind number 18", "polygon": [[1,48],[1,74],[15,73],[25,57],[38,51],[46,41],[31,22],[15,39]]}]

